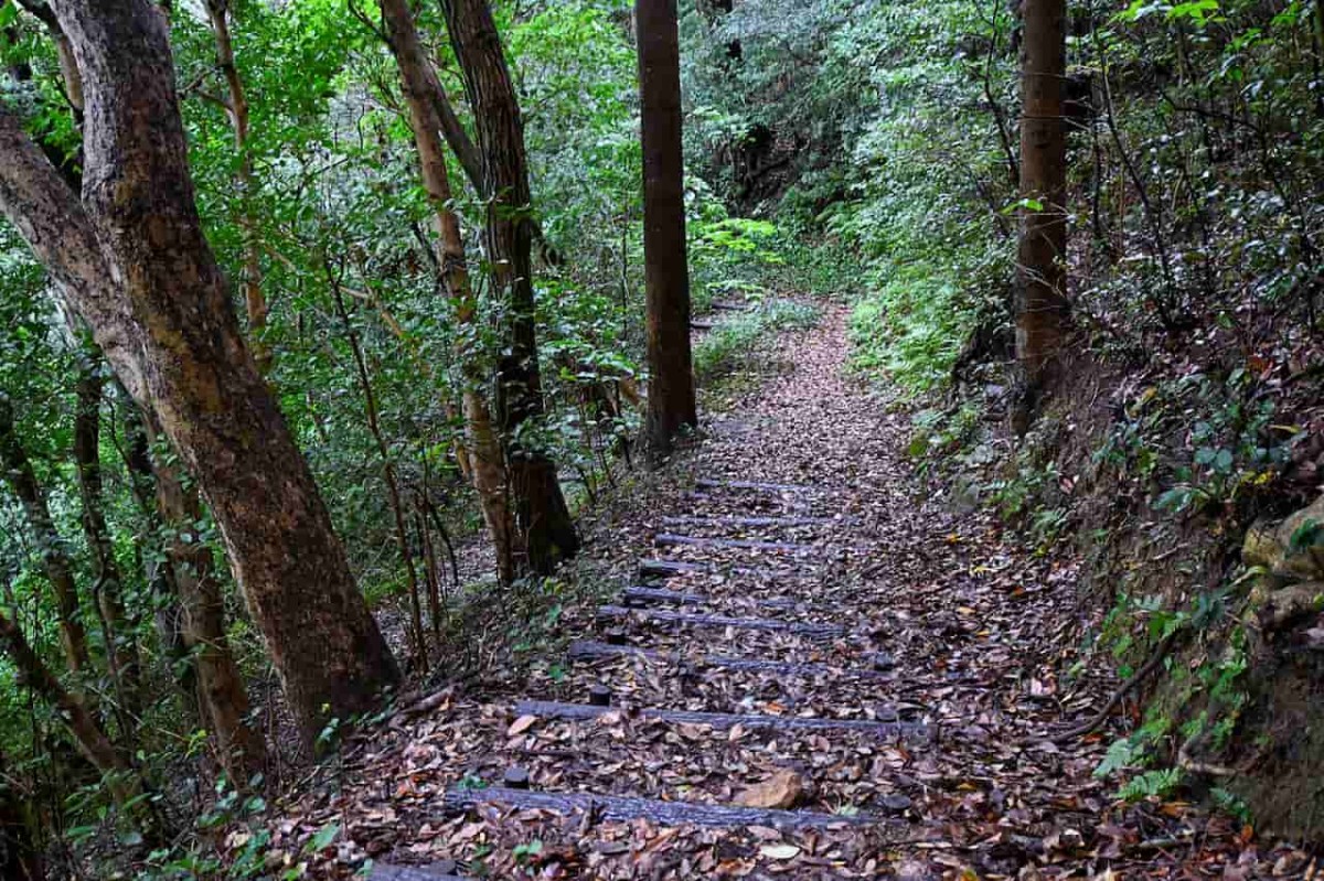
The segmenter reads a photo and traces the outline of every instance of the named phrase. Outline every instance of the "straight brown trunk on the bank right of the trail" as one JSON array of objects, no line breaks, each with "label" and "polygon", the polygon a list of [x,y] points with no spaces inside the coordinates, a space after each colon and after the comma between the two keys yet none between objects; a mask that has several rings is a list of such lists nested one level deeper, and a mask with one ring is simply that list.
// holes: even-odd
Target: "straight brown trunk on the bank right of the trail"
[{"label": "straight brown trunk on the bank right of the trail", "polygon": [[1017,430],[1038,406],[1067,323],[1066,0],[1022,0],[1021,237],[1016,353],[1023,382]]}]

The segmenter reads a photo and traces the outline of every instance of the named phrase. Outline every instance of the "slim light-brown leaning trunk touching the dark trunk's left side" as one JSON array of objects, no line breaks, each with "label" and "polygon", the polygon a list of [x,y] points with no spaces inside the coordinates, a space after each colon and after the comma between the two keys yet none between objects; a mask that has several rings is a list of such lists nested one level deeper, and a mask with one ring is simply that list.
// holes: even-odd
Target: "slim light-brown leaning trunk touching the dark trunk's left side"
[{"label": "slim light-brown leaning trunk touching the dark trunk's left side", "polygon": [[[446,171],[446,155],[438,136],[438,131],[445,130],[438,118],[436,101],[441,85],[437,82],[432,62],[418,41],[418,30],[406,0],[381,0],[381,17],[387,25],[391,52],[400,67],[405,103],[409,106],[409,123],[414,132],[418,164],[422,169],[422,184],[433,208],[441,283],[446,296],[455,306],[457,320],[462,327],[471,328],[477,320],[478,306],[469,283],[459,218],[450,209],[450,176]],[[445,101],[445,95],[441,98]],[[463,157],[461,157],[461,163],[463,164]],[[458,336],[465,340],[473,335],[459,333]],[[510,508],[506,504],[504,452],[496,439],[496,433],[493,430],[491,411],[482,393],[485,377],[479,353],[466,348],[466,343],[461,343],[459,347],[461,351],[457,355],[465,377],[462,402],[470,479],[478,492],[487,530],[496,546],[496,574],[502,583],[510,583],[514,578],[514,548],[511,546]]]}]

